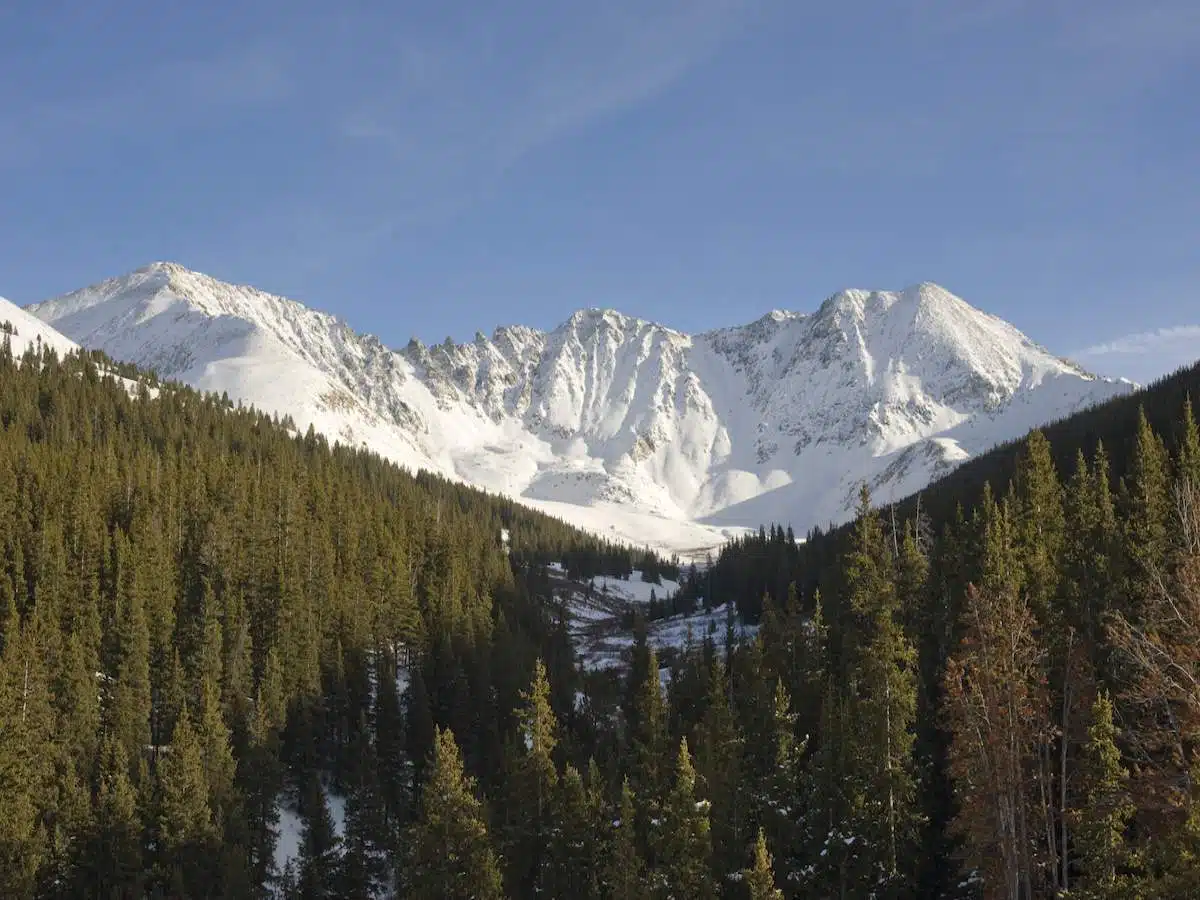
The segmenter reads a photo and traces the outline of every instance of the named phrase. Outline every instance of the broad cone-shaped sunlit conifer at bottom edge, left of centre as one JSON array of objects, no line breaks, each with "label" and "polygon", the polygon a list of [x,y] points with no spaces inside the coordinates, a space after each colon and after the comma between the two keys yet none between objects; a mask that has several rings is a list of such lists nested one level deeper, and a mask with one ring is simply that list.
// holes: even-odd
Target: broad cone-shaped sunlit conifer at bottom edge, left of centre
[{"label": "broad cone-shaped sunlit conifer at bottom edge, left of centre", "polygon": [[500,866],[492,850],[474,779],[450,731],[434,733],[433,762],[412,828],[410,896],[422,900],[499,900]]}]

